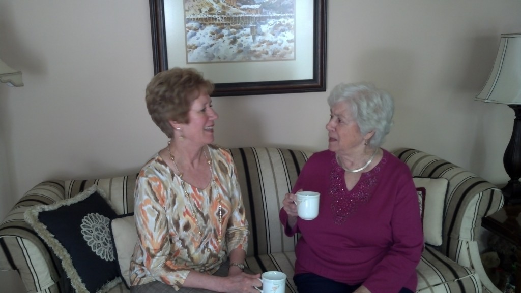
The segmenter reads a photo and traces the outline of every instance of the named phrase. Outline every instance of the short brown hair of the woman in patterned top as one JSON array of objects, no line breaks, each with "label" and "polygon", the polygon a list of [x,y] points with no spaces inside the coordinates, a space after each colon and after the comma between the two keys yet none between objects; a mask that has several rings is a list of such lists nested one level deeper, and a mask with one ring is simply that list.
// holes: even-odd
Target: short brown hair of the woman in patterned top
[{"label": "short brown hair of the woman in patterned top", "polygon": [[194,68],[174,67],[157,73],[146,86],[145,101],[148,114],[161,131],[173,137],[169,121],[189,123],[192,102],[204,91],[214,91],[214,84],[203,78]]}]

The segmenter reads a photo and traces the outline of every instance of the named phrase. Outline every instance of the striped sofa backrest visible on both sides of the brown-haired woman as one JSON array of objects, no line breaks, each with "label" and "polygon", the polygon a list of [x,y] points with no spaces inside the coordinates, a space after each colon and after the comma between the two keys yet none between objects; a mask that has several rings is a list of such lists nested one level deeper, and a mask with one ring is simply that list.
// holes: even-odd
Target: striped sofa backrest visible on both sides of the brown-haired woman
[{"label": "striped sofa backrest visible on both sides of the brown-haired woman", "polygon": [[[284,195],[291,191],[312,151],[245,147],[230,149],[237,167],[246,218],[250,224],[247,256],[293,251],[297,236],[284,236],[279,222]],[[96,184],[105,191],[117,214],[134,211],[137,173],[94,180],[65,182],[66,198]]]}]

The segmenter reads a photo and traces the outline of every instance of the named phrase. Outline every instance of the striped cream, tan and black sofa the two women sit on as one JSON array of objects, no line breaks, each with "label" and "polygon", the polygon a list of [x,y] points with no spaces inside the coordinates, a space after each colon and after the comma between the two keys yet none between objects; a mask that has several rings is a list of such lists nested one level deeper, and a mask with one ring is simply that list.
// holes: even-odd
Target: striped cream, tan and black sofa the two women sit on
[{"label": "striped cream, tan and black sofa the two women sit on", "polygon": [[[286,292],[293,284],[296,237],[283,235],[278,220],[282,198],[293,186],[312,152],[282,148],[233,148],[247,217],[251,227],[246,264],[255,272],[279,270],[288,275]],[[445,199],[443,244],[426,246],[417,267],[417,292],[494,292],[483,270],[476,237],[481,218],[503,205],[500,190],[456,165],[414,149],[399,149],[414,176],[449,180]],[[51,180],[29,190],[0,225],[0,271],[17,270],[26,292],[70,292],[72,288],[59,260],[31,226],[24,211],[34,205],[70,198],[93,184],[105,190],[118,214],[133,211],[136,174],[95,180]],[[428,207],[426,207],[428,209]],[[109,292],[128,292],[120,283]]]}]

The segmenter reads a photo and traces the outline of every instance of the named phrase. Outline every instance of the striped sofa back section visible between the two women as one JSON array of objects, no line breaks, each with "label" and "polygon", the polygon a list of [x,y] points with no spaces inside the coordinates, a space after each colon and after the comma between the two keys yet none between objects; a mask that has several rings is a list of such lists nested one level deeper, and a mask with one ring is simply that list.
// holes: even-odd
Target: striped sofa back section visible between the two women
[{"label": "striped sofa back section visible between the two women", "polygon": [[284,235],[279,211],[313,152],[265,147],[230,150],[250,224],[247,256],[294,251],[297,236]]}]

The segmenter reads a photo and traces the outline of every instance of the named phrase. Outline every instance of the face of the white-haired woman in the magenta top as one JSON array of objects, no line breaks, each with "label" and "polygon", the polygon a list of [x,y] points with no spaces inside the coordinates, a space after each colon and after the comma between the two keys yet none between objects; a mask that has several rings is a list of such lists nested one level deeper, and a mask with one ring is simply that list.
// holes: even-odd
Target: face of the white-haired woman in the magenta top
[{"label": "face of the white-haired woman in the magenta top", "polygon": [[363,136],[358,124],[351,114],[349,104],[339,102],[331,108],[331,116],[326,124],[328,130],[328,149],[339,155],[350,154],[353,150],[364,148],[365,139],[372,136],[372,132]]}]

